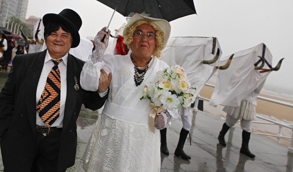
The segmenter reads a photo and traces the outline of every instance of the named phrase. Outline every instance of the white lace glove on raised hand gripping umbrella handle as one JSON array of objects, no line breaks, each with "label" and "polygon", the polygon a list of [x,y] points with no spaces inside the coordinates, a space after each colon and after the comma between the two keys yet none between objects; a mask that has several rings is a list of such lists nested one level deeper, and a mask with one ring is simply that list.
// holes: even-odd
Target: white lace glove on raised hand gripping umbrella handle
[{"label": "white lace glove on raised hand gripping umbrella handle", "polygon": [[[93,50],[92,58],[91,58],[91,61],[93,62],[93,64],[95,64],[97,62],[102,62],[102,57],[105,53],[106,48],[108,47],[109,36],[110,36],[111,31],[109,30],[109,32],[106,33],[105,32],[106,28],[107,27],[104,27],[103,29],[101,29],[97,33],[97,35],[95,36],[96,49]],[[101,40],[105,34],[106,34],[106,38],[105,38],[104,42],[101,42]]]}]

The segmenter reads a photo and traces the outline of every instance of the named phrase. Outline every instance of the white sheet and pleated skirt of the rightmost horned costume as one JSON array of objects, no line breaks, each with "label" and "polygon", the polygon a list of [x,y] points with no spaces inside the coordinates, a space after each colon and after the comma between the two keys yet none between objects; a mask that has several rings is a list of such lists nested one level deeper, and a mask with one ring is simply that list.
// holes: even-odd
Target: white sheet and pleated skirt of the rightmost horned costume
[{"label": "white sheet and pleated skirt of the rightmost horned costume", "polygon": [[[262,57],[272,64],[272,54],[263,43],[247,50],[236,52],[230,67],[218,71],[217,84],[209,105],[225,105],[223,110],[235,119],[254,120],[256,99],[270,72],[260,73],[254,64]],[[229,56],[220,60],[226,63]],[[260,66],[260,64],[258,64]],[[269,69],[265,64],[263,69]]]}]

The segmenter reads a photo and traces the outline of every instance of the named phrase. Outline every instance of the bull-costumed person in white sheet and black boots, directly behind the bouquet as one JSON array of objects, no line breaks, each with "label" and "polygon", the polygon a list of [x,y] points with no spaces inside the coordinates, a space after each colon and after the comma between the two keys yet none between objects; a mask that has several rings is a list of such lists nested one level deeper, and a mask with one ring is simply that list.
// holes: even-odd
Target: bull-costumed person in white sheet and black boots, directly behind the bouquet
[{"label": "bull-costumed person in white sheet and black boots, directly behind the bouquet", "polygon": [[[217,52],[216,55],[215,52]],[[195,97],[217,69],[229,67],[229,64],[226,64],[226,67],[217,66],[222,51],[217,38],[212,37],[171,37],[162,54],[162,61],[171,66],[178,64],[184,68],[191,85],[196,88]],[[191,129],[191,116],[193,112],[190,107],[182,107],[178,110],[178,113],[181,116],[183,127],[180,131],[179,141],[174,154],[188,160],[191,157],[184,152],[183,147]],[[169,155],[166,140],[167,128],[160,130],[160,132],[161,151],[163,154]]]}]

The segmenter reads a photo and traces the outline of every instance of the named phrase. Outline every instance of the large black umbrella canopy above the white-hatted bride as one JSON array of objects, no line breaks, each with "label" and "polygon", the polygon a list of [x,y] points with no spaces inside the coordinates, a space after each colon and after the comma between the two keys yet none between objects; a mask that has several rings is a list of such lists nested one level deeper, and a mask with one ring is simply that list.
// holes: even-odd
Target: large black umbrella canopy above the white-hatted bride
[{"label": "large black umbrella canopy above the white-hatted bride", "polygon": [[[97,0],[115,9],[118,0]],[[153,18],[172,21],[180,17],[196,14],[193,0],[119,0],[116,11],[123,16],[132,12],[146,12]]]}]

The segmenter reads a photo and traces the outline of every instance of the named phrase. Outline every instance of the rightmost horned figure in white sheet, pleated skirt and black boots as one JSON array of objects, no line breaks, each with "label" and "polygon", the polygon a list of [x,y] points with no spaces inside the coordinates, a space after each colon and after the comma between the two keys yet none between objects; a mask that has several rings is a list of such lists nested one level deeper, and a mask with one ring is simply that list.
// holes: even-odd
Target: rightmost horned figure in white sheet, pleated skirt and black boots
[{"label": "rightmost horned figure in white sheet, pleated skirt and black boots", "polygon": [[[227,58],[221,59],[220,63],[225,63]],[[282,60],[279,61],[275,68],[272,68],[270,65],[272,64],[272,54],[265,44],[261,43],[250,49],[236,52],[229,69],[218,72],[217,85],[209,104],[213,106],[225,105],[223,111],[227,115],[226,122],[223,124],[218,137],[220,144],[226,146],[225,134],[230,127],[240,120],[243,130],[240,153],[251,158],[255,157],[250,152],[248,143],[252,128],[251,124],[256,118],[256,98],[263,88],[265,79],[270,71],[279,70]],[[260,62],[262,63],[260,64]]]}]

